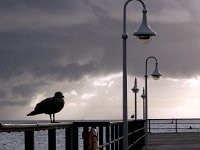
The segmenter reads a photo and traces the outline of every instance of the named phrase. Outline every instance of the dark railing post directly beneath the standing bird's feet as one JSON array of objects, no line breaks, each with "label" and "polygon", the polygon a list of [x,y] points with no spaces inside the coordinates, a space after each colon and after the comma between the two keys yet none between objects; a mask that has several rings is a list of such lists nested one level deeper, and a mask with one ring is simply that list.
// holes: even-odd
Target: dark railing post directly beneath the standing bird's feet
[{"label": "dark railing post directly beneath the standing bird's feet", "polygon": [[48,150],[56,150],[56,129],[48,130]]}]

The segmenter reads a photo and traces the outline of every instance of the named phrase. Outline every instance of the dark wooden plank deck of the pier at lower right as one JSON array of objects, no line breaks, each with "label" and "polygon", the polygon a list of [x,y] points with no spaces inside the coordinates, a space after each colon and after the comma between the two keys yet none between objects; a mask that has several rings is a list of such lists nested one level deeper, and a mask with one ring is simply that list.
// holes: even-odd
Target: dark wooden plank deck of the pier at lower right
[{"label": "dark wooden plank deck of the pier at lower right", "polygon": [[150,133],[142,150],[200,150],[200,133]]}]

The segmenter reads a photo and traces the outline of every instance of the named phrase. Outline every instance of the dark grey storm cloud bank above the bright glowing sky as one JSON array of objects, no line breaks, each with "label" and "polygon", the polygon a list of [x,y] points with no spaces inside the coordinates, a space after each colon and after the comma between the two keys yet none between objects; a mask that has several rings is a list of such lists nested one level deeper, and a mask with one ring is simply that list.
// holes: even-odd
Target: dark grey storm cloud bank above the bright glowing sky
[{"label": "dark grey storm cloud bank above the bright glowing sky", "polygon": [[[139,8],[129,6],[129,73],[142,76],[146,57],[154,55],[165,76],[198,74],[200,38],[194,5],[185,0],[145,2],[158,36],[145,46],[134,41],[131,34],[140,24]],[[1,104],[26,104],[50,82],[122,71],[122,4],[120,0],[0,0]],[[30,80],[24,81],[25,74]]]}]

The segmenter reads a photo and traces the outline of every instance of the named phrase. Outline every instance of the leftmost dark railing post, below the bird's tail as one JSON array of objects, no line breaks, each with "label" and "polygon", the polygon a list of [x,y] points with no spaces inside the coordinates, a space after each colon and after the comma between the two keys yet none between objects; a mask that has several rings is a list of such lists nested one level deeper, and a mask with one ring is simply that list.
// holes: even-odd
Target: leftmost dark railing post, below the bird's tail
[{"label": "leftmost dark railing post, below the bird's tail", "polygon": [[34,131],[25,131],[25,150],[34,150]]}]

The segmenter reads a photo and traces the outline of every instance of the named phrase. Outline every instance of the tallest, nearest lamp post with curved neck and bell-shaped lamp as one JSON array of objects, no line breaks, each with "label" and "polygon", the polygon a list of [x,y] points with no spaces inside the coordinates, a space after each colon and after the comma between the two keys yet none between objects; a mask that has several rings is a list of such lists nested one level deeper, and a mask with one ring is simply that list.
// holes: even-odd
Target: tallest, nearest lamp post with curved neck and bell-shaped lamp
[{"label": "tallest, nearest lamp post with curved neck and bell-shaped lamp", "polygon": [[[126,6],[129,2],[133,0],[127,0],[124,3],[123,7],[123,150],[128,149],[128,115],[127,115],[127,61],[126,61],[126,40],[128,38],[128,34],[126,33]],[[149,25],[147,24],[147,9],[142,0],[136,0],[140,2],[143,6],[143,20],[139,29],[134,32],[134,36],[136,36],[139,40],[143,42],[148,42],[151,40],[152,36],[156,36],[156,32],[154,32]]]}]

